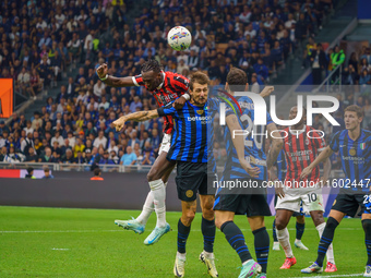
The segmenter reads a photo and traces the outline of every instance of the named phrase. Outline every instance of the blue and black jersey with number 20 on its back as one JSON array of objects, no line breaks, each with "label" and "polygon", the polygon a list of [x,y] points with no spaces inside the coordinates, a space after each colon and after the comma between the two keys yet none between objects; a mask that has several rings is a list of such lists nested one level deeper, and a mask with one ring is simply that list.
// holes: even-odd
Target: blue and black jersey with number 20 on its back
[{"label": "blue and black jersey with number 20 on its back", "polygon": [[[251,166],[260,168],[261,172],[256,179],[267,180],[266,156],[264,153],[265,125],[254,124],[254,104],[249,97],[236,97],[236,99],[242,110],[242,114],[238,116],[240,125],[242,130],[248,131],[248,135],[244,135],[244,157]],[[231,113],[234,113],[234,110],[227,108],[226,117]],[[266,124],[272,122],[270,113],[266,112]],[[223,180],[249,178],[250,176],[240,166],[227,125],[225,126],[225,142],[228,158],[223,172]]]}]

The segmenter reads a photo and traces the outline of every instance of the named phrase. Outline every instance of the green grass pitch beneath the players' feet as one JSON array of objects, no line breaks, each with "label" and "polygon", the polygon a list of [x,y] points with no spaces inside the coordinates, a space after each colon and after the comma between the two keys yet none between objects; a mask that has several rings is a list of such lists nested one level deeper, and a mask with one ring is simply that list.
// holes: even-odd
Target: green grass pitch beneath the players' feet
[{"label": "green grass pitch beneath the players' feet", "polygon": [[[145,246],[143,241],[154,228],[154,215],[147,230],[140,235],[113,223],[115,219],[129,219],[137,214],[136,210],[0,206],[0,277],[173,277],[180,213],[167,213],[167,221],[173,230],[152,246]],[[267,277],[316,277],[300,274],[301,268],[315,259],[319,243],[312,220],[306,220],[302,241],[310,251],[294,247],[298,263],[289,270],[279,269],[285,259],[284,251],[271,251]],[[272,221],[273,217],[266,218],[271,238]],[[236,222],[254,256],[247,219],[239,216]],[[295,219],[289,231],[294,243]],[[367,261],[363,239],[360,219],[344,219],[334,240],[338,271],[321,277],[360,276]],[[206,267],[198,259],[202,250],[201,215],[198,214],[187,243],[185,277],[208,277]],[[238,277],[239,258],[218,230],[215,255],[219,277]]]}]

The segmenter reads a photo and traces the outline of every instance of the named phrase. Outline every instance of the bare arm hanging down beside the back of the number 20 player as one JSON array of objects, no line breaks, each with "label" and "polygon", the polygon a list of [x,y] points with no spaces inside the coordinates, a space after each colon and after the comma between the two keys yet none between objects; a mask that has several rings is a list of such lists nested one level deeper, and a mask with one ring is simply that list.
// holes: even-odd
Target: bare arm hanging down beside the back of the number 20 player
[{"label": "bare arm hanging down beside the back of the number 20 player", "polygon": [[236,114],[229,114],[226,119],[228,129],[230,130],[230,134],[232,137],[234,146],[237,152],[238,159],[242,166],[242,168],[252,177],[258,178],[260,173],[259,167],[252,167],[246,159],[244,159],[244,142],[243,136],[235,135],[234,131],[242,130]]}]

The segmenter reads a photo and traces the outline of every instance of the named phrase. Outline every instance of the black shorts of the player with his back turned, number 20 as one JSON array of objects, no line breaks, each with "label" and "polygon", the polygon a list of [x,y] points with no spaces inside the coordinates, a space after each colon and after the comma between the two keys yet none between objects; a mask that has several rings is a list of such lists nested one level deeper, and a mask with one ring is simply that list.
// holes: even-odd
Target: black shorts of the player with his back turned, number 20
[{"label": "black shorts of the player with his back turned, number 20", "polygon": [[[263,181],[258,181],[260,188],[262,188]],[[247,215],[248,217],[272,215],[266,202],[266,190],[263,188],[262,194],[216,194],[214,210],[232,211],[236,215]]]}]

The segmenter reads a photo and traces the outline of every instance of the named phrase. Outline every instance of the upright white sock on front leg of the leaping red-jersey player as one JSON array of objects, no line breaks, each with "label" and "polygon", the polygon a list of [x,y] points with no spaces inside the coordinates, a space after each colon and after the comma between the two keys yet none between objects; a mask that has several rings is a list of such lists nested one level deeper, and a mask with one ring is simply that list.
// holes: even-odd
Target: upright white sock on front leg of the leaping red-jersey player
[{"label": "upright white sock on front leg of the leaping red-jersey player", "polygon": [[165,207],[165,184],[161,179],[149,182],[149,188],[154,198],[155,211],[157,215],[156,227],[166,226],[166,207]]}]

